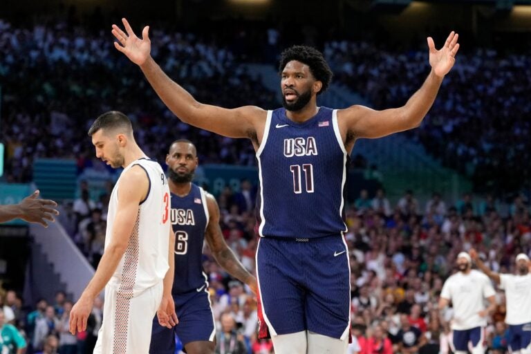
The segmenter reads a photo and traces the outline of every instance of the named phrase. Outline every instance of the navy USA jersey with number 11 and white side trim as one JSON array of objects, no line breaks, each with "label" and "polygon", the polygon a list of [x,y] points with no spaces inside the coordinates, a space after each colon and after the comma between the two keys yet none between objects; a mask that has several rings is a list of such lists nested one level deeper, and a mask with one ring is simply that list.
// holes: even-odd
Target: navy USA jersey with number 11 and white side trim
[{"label": "navy USA jersey with number 11 and white side trim", "polygon": [[336,112],[320,107],[313,118],[297,123],[283,108],[268,111],[257,151],[260,236],[312,239],[346,231],[349,156]]}]

